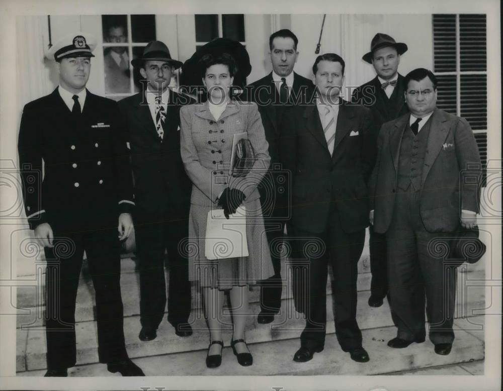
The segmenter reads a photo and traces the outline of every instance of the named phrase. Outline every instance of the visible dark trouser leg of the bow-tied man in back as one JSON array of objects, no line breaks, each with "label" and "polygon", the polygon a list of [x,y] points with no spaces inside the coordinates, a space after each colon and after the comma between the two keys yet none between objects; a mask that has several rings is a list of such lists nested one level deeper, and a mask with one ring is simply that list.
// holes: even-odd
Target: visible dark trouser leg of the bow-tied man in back
[{"label": "visible dark trouser leg of the bow-tied man in back", "polygon": [[376,298],[384,299],[388,292],[386,234],[374,232],[374,226],[370,226],[370,294]]}]

